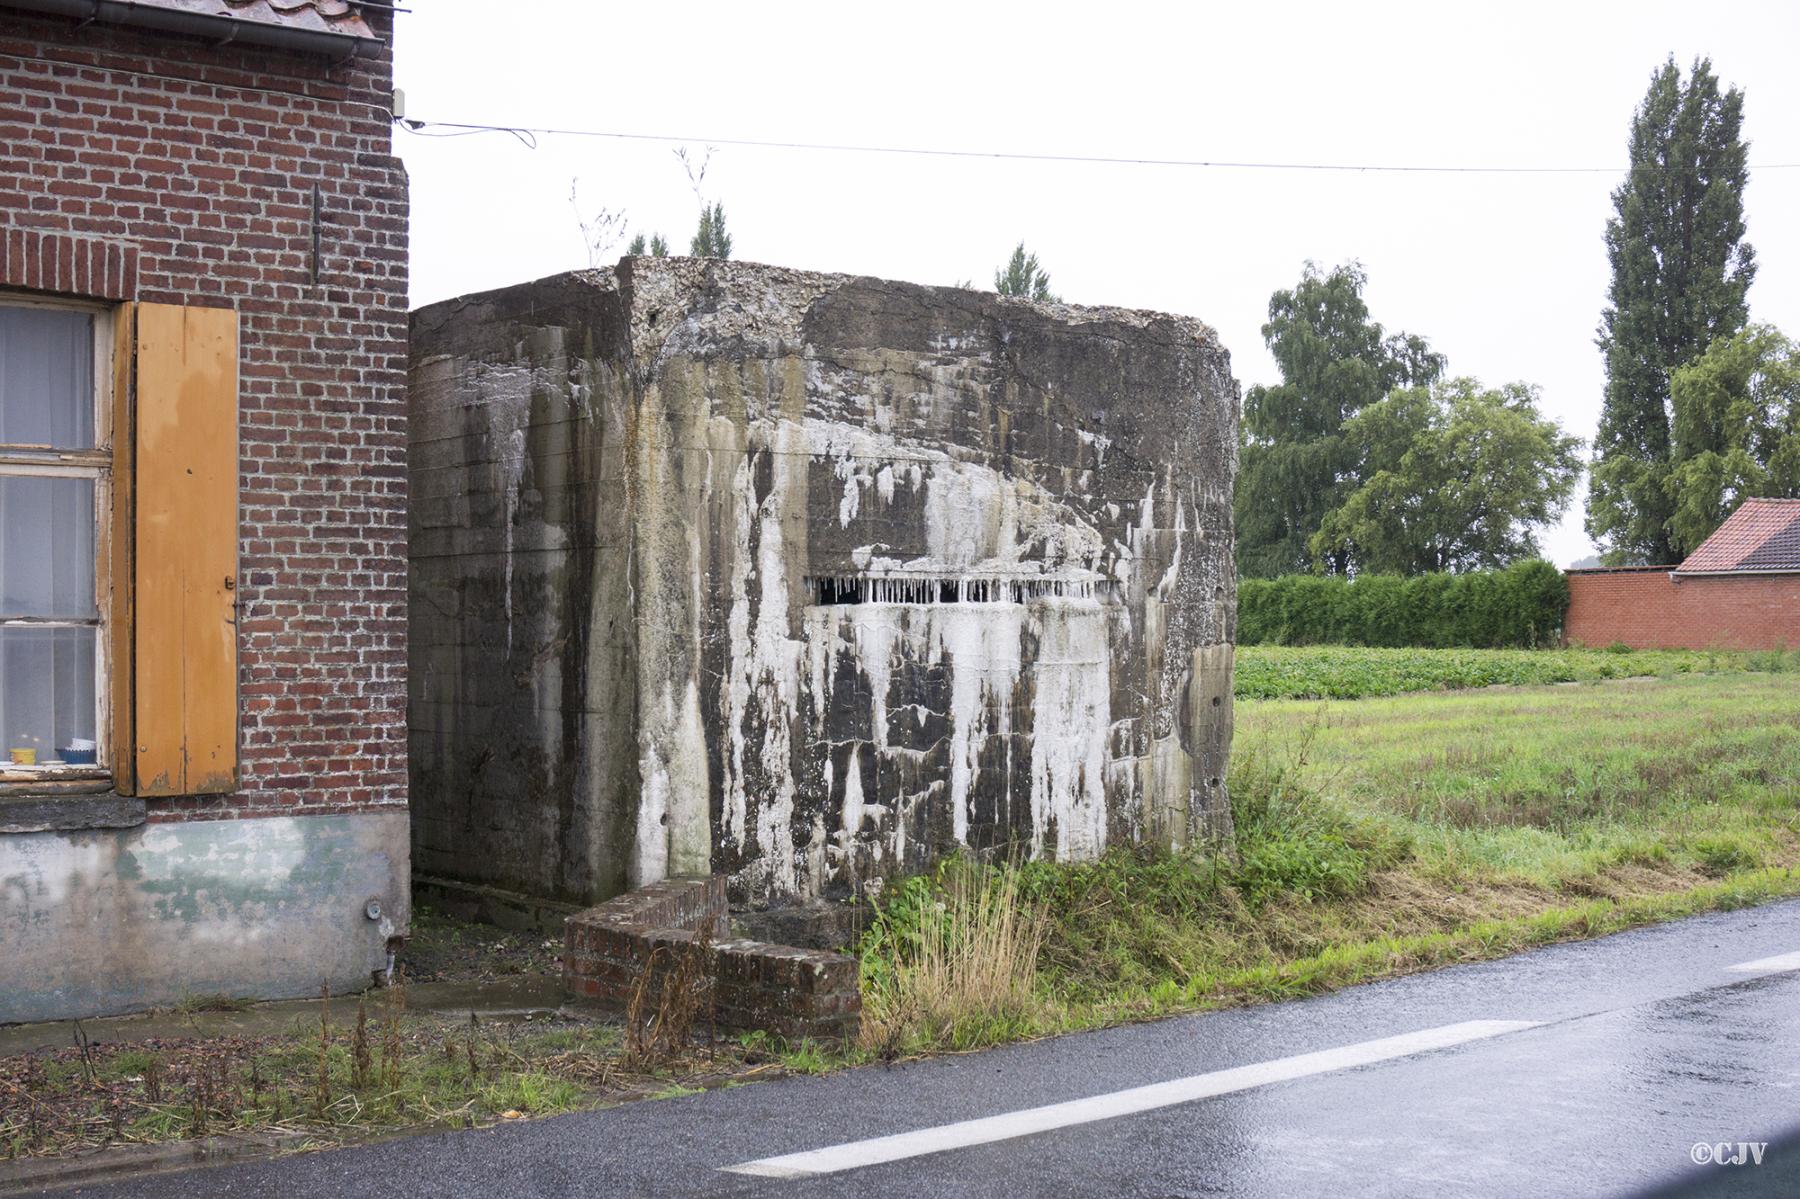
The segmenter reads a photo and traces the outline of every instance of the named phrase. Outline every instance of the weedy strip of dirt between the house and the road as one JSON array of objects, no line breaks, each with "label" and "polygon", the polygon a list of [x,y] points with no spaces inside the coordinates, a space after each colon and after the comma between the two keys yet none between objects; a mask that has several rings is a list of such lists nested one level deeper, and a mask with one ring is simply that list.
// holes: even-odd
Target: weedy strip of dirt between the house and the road
[{"label": "weedy strip of dirt between the house and the road", "polygon": [[326,1028],[315,1017],[277,1035],[157,1037],[0,1057],[0,1159],[218,1134],[275,1132],[329,1147],[783,1071],[760,1042],[704,1033],[652,1069],[621,1051],[617,1026],[590,1019],[479,1021],[365,1005],[346,1026],[340,1014]]}]

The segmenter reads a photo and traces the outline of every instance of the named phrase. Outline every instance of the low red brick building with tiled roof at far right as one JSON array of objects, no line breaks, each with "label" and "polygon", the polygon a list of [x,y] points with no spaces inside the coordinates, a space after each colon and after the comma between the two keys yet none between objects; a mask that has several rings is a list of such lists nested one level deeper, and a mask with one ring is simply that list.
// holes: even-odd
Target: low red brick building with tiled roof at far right
[{"label": "low red brick building with tiled roof at far right", "polygon": [[1570,645],[1800,648],[1800,499],[1751,499],[1676,569],[1570,571]]}]

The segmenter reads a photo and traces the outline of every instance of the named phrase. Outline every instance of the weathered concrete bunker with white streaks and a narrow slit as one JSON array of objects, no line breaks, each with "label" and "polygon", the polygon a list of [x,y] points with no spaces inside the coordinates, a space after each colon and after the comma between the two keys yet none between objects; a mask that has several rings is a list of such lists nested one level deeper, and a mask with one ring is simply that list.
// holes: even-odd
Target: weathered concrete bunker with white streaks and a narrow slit
[{"label": "weathered concrete bunker with white streaks and a narrow slit", "polygon": [[747,263],[414,313],[419,868],[760,906],[1222,832],[1237,407],[1195,320]]}]

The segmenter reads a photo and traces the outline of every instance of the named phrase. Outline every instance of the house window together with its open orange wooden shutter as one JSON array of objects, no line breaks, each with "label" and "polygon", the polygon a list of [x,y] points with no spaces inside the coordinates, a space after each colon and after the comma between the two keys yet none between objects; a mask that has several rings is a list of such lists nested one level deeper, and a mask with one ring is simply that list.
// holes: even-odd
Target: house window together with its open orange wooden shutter
[{"label": "house window together with its open orange wooden shutter", "polygon": [[0,792],[238,789],[238,313],[0,295]]}]

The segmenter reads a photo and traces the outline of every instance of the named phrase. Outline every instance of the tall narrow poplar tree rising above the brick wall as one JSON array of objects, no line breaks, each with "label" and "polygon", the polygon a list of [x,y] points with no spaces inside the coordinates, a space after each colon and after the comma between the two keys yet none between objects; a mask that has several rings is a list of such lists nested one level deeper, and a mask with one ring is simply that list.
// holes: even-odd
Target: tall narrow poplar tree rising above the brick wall
[{"label": "tall narrow poplar tree rising above the brick wall", "polygon": [[1712,63],[1687,83],[1674,56],[1631,122],[1631,173],[1613,193],[1613,266],[1598,346],[1606,403],[1595,437],[1588,533],[1613,563],[1670,563],[1670,373],[1748,320],[1755,256],[1744,243],[1744,94]]}]

